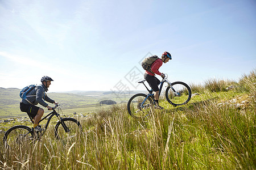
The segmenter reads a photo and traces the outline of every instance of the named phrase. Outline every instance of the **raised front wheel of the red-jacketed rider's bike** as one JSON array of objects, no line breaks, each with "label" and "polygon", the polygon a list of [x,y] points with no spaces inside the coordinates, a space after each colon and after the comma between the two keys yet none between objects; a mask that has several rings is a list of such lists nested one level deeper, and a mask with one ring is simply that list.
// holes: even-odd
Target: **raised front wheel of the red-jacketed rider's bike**
[{"label": "raised front wheel of the red-jacketed rider's bike", "polygon": [[172,88],[166,88],[167,101],[174,106],[187,104],[191,99],[191,88],[183,82],[174,82],[171,85]]}]

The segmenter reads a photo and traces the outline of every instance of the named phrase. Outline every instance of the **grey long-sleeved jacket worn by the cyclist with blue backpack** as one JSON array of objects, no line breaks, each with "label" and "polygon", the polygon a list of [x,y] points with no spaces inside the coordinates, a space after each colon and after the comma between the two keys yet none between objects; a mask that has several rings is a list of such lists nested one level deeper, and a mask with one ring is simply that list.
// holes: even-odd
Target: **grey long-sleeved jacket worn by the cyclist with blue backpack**
[{"label": "grey long-sleeved jacket worn by the cyclist with blue backpack", "polygon": [[[30,101],[32,104],[37,105],[38,103],[44,107],[47,107],[47,103],[44,100],[48,101],[49,103],[54,103],[54,100],[50,99],[47,95],[47,87],[44,84],[40,84],[36,86],[31,92],[27,94],[27,100]],[[27,100],[22,99],[22,103],[30,104]]]}]

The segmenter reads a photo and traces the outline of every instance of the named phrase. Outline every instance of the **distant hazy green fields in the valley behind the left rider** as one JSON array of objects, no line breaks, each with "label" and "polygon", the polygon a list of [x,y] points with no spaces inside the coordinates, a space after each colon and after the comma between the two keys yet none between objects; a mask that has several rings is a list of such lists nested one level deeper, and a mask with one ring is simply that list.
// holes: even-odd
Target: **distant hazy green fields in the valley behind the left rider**
[{"label": "distant hazy green fields in the valley behind the left rider", "polygon": [[[20,112],[19,109],[19,89],[18,88],[0,88],[0,118],[27,116],[27,113]],[[117,103],[127,102],[136,92],[112,91],[72,91],[63,93],[47,93],[47,95],[58,101],[63,114],[92,113],[108,106],[100,106],[102,100],[114,100]],[[52,104],[49,104],[52,105]],[[40,107],[40,104],[38,105]],[[48,112],[45,109],[46,113]]]}]

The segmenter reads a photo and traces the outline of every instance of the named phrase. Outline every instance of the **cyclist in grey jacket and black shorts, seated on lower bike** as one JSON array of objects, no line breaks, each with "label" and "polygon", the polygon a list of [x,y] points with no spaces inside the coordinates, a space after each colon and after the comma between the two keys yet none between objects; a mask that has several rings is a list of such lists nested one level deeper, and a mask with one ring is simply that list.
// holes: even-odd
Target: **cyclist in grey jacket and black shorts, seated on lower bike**
[{"label": "cyclist in grey jacket and black shorts, seated on lower bike", "polygon": [[53,79],[49,76],[43,76],[41,79],[42,84],[36,86],[31,92],[29,92],[26,100],[22,99],[22,101],[20,101],[20,111],[26,112],[28,116],[34,119],[34,126],[32,128],[34,131],[43,130],[38,124],[44,114],[44,109],[36,107],[35,105],[39,103],[40,105],[47,107],[48,110],[52,110],[52,107],[50,107],[44,100],[49,103],[57,104],[46,95],[51,81],[53,81]]}]

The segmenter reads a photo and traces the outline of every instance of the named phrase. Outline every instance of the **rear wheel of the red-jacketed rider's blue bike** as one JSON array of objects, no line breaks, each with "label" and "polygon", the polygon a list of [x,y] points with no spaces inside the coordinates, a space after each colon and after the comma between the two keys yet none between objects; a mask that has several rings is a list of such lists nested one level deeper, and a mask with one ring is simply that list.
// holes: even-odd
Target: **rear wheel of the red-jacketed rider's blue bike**
[{"label": "rear wheel of the red-jacketed rider's blue bike", "polygon": [[[146,101],[141,105],[144,99],[146,99]],[[150,113],[152,106],[153,101],[150,96],[145,94],[136,94],[128,101],[127,111],[133,117],[146,117]]]}]

